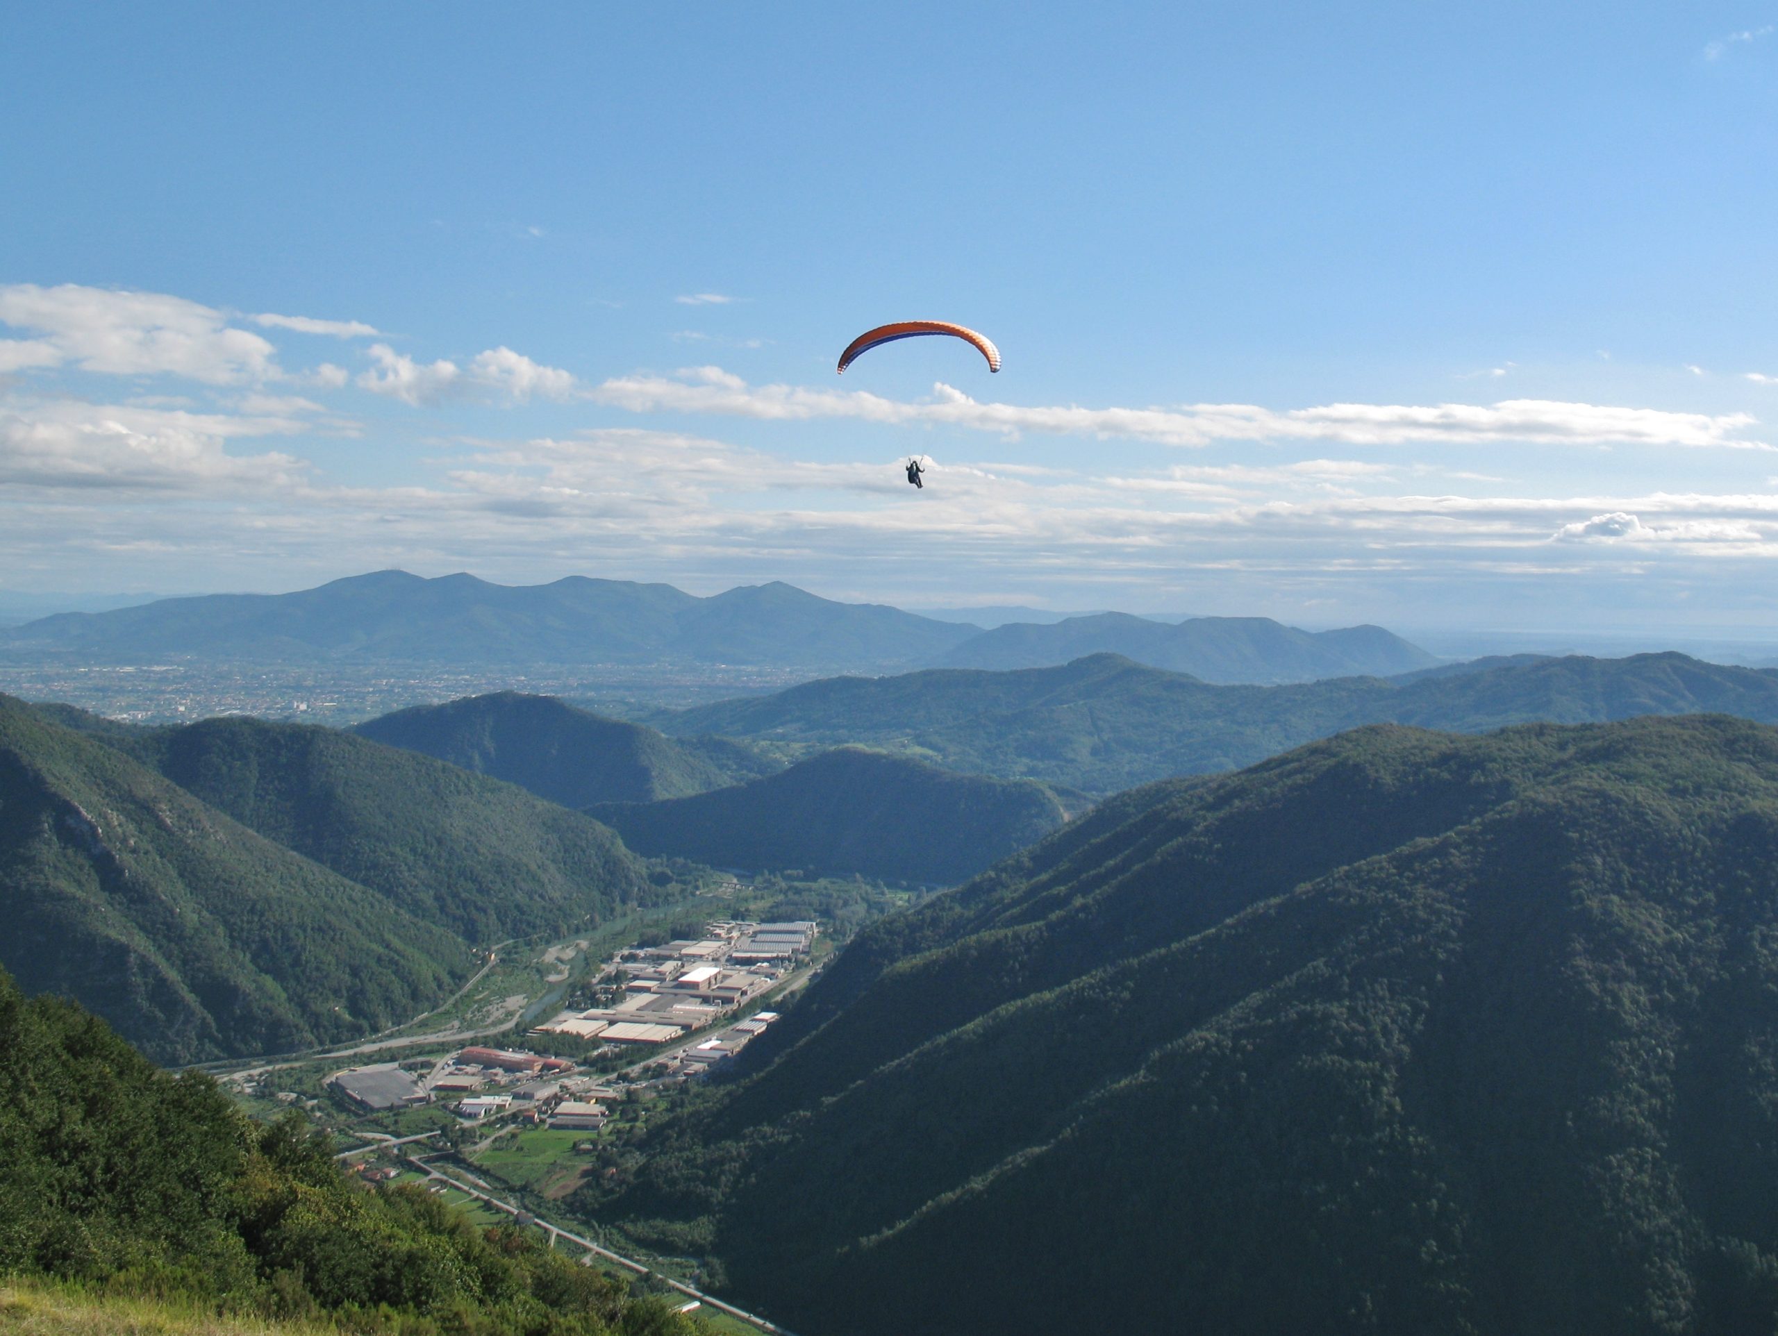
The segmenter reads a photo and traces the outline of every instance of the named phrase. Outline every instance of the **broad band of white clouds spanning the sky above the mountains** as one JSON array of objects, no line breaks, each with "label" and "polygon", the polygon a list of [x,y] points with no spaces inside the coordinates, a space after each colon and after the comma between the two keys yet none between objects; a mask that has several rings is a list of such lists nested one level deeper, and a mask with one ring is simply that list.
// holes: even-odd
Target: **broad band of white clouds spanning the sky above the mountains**
[{"label": "broad band of white clouds spanning the sky above the mountains", "polygon": [[[0,322],[16,334],[0,339],[0,569],[48,561],[107,586],[126,554],[126,583],[162,586],[215,586],[219,570],[272,588],[302,583],[276,572],[379,565],[605,570],[903,602],[1252,611],[1287,592],[1353,604],[1351,620],[1414,590],[1442,611],[1462,606],[1453,590],[1527,579],[1620,581],[1622,606],[1664,581],[1723,606],[1730,569],[1757,572],[1734,584],[1750,606],[1774,588],[1778,494],[1769,462],[1741,478],[1766,444],[1735,410],[1019,405],[942,384],[896,400],[717,366],[581,380],[503,343],[420,355],[357,320],[75,284],[0,288]],[[315,338],[340,341],[336,361],[286,368]],[[1728,384],[1760,393],[1741,377],[1700,393]],[[709,432],[663,430],[685,416]],[[471,421],[510,430],[471,437]],[[846,423],[942,430],[859,446]],[[1029,433],[1133,448],[1038,462],[1006,446]],[[914,441],[921,492],[894,458]],[[1632,449],[1597,467],[1618,446]],[[1680,453],[1687,487],[1655,485]]]}]

